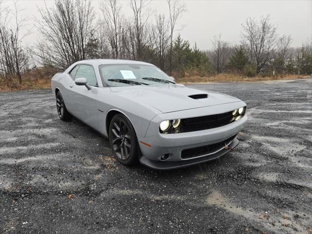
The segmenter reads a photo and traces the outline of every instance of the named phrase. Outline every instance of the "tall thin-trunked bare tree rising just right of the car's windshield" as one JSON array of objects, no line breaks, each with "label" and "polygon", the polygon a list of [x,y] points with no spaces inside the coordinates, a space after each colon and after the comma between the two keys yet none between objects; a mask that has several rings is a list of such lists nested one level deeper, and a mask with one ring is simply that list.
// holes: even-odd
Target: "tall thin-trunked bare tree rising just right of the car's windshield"
[{"label": "tall thin-trunked bare tree rising just right of the car's windshield", "polygon": [[167,0],[169,6],[170,18],[170,51],[169,51],[169,74],[172,73],[172,48],[173,48],[173,35],[176,30],[176,22],[186,11],[186,5],[180,0]]}]

